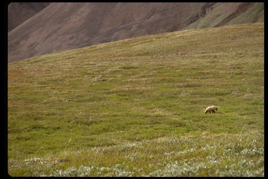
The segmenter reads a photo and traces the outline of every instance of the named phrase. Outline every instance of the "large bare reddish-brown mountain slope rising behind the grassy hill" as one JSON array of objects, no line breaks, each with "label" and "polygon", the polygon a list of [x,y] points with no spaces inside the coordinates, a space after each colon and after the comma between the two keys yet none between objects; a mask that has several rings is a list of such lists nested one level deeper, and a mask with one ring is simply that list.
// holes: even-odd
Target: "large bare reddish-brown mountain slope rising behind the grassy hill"
[{"label": "large bare reddish-brown mountain slope rising behind the grassy hill", "polygon": [[8,33],[8,62],[189,26],[199,28],[191,24],[207,19],[211,11],[221,13],[215,20],[217,23],[206,21],[201,27],[224,25],[235,19],[223,17],[236,13],[240,7],[243,12],[239,15],[242,15],[255,4],[52,3]]}]

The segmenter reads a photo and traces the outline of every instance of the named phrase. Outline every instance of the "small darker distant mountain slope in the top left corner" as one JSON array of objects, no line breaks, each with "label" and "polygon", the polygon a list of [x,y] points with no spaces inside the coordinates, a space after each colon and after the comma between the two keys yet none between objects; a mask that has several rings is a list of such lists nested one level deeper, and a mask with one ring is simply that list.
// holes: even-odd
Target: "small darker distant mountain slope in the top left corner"
[{"label": "small darker distant mountain slope in the top left corner", "polygon": [[49,4],[50,2],[11,2],[8,4],[8,32]]}]

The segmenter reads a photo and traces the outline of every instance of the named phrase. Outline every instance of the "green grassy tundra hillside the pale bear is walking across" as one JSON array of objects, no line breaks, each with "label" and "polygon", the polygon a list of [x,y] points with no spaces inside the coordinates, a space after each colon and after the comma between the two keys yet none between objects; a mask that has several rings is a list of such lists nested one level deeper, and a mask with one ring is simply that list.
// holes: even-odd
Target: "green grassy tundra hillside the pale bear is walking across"
[{"label": "green grassy tundra hillside the pale bear is walking across", "polygon": [[9,63],[8,173],[264,176],[264,24]]}]

